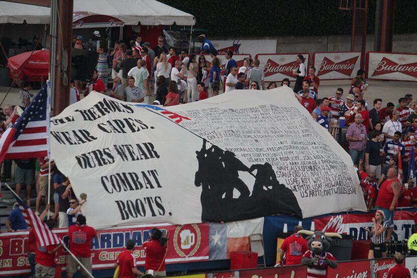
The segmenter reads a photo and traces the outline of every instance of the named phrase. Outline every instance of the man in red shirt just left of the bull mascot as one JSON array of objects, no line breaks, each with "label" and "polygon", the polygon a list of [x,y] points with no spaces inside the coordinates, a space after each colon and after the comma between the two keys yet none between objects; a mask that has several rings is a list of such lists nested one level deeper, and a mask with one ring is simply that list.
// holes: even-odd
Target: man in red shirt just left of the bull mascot
[{"label": "man in red shirt just left of the bull mascot", "polygon": [[281,244],[279,255],[281,261],[285,255],[285,265],[301,264],[302,255],[308,251],[307,241],[301,234],[297,234],[300,230],[301,226],[295,226],[294,233]]}]

